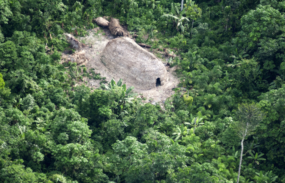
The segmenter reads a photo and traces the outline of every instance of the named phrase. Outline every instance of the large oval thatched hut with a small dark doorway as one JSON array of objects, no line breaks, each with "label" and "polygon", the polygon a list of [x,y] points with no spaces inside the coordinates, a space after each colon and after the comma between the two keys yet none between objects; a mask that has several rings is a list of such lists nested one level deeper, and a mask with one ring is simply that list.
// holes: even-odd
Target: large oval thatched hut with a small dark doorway
[{"label": "large oval thatched hut with a small dark doorway", "polygon": [[119,74],[136,88],[150,89],[167,81],[162,62],[130,38],[109,41],[101,53],[101,61],[111,72]]}]

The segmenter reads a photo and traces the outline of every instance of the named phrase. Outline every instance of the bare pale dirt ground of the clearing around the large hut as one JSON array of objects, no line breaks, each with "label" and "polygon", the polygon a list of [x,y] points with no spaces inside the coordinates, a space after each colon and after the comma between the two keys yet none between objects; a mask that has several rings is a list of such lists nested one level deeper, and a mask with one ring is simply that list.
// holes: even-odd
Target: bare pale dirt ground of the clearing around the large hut
[{"label": "bare pale dirt ground of the clearing around the large hut", "polygon": [[[125,35],[125,37],[128,36],[128,34]],[[100,73],[101,77],[106,77],[105,80],[107,80],[108,82],[111,81],[112,78],[114,78],[116,82],[120,78],[122,78],[122,76],[110,72],[100,61],[100,53],[103,51],[107,43],[114,38],[117,38],[117,36],[113,36],[108,29],[95,28],[93,30],[89,30],[89,36],[80,38],[80,41],[82,43],[85,43],[87,46],[78,49],[78,51],[81,51],[82,49],[85,50],[85,57],[88,60],[85,63],[82,63],[81,65],[85,65],[88,69],[93,68],[95,73]],[[65,57],[67,56],[68,55],[65,55]],[[133,90],[139,93],[139,97],[146,98],[145,102],[151,102],[152,104],[163,103],[168,97],[170,97],[174,93],[172,88],[175,88],[177,86],[177,84],[179,83],[179,79],[176,77],[174,72],[176,68],[170,68],[166,65],[168,59],[169,58],[160,59],[162,63],[166,66],[166,70],[168,71],[168,81],[166,82],[166,84],[148,90],[142,90],[138,88],[135,88]],[[86,78],[86,81],[87,85],[91,88],[99,88],[101,86],[101,80]],[[125,83],[127,87],[133,86],[132,83],[128,83],[125,81],[123,81],[123,83]]]}]

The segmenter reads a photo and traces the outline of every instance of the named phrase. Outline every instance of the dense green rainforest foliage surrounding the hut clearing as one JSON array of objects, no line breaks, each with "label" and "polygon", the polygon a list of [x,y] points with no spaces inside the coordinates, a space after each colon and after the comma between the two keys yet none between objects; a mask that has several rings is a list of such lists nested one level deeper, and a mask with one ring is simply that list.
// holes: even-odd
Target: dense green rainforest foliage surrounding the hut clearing
[{"label": "dense green rainforest foliage surrounding the hut clearing", "polygon": [[[239,182],[285,182],[285,1],[180,6],[0,0],[0,182],[234,183],[240,154]],[[63,33],[84,36],[97,16],[178,55],[163,107],[121,80],[79,85],[91,69],[59,63]]]}]

